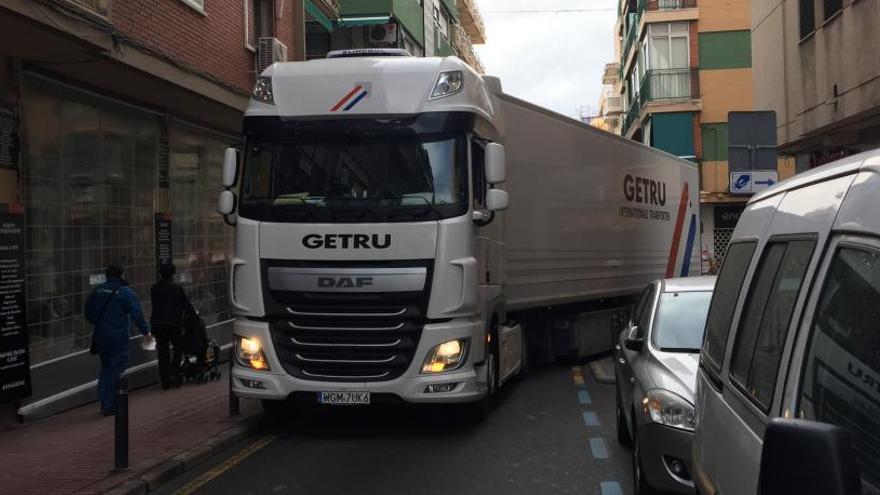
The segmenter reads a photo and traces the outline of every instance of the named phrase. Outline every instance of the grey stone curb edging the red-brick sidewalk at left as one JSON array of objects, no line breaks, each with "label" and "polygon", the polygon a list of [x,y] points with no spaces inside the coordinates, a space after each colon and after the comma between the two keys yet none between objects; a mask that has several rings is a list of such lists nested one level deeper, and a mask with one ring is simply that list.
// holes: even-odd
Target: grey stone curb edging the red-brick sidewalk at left
[{"label": "grey stone curb edging the red-brick sidewalk at left", "polygon": [[258,430],[261,425],[259,415],[246,419],[241,424],[217,434],[211,440],[160,462],[137,478],[124,481],[104,493],[105,495],[144,495],[155,491],[160,486],[244,440]]}]

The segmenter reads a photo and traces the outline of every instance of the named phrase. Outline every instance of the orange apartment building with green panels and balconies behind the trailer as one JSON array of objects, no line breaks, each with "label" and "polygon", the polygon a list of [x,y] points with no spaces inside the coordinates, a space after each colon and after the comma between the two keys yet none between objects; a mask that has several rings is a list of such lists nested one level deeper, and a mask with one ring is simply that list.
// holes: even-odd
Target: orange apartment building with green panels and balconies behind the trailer
[{"label": "orange apartment building with green panels and balconies behind the trailer", "polygon": [[748,199],[729,191],[728,113],[754,108],[750,13],[749,1],[622,0],[619,71],[603,77],[622,95],[621,135],[699,164],[706,271]]}]

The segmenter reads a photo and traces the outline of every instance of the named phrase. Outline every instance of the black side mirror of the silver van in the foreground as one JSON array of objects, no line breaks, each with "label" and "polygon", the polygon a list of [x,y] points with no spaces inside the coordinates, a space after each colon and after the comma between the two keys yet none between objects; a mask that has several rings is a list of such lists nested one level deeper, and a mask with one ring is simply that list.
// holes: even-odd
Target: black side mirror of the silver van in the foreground
[{"label": "black side mirror of the silver van in the foreground", "polygon": [[777,418],[767,425],[758,495],[860,495],[849,435],[838,426]]}]

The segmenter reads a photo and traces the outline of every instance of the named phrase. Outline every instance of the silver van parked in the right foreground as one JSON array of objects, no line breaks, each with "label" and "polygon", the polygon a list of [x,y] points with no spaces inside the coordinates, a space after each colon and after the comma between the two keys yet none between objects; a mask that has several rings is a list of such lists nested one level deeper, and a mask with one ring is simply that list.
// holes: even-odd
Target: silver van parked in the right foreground
[{"label": "silver van parked in the right foreground", "polygon": [[701,495],[880,494],[880,150],[749,202],[695,402]]}]

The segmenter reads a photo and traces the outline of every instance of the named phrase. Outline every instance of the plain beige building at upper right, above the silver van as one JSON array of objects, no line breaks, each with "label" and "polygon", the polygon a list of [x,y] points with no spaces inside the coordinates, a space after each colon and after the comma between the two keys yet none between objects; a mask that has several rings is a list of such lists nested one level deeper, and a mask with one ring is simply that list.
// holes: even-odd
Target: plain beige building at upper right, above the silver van
[{"label": "plain beige building at upper right, above the silver van", "polygon": [[798,172],[880,146],[880,6],[752,0],[757,110]]}]

